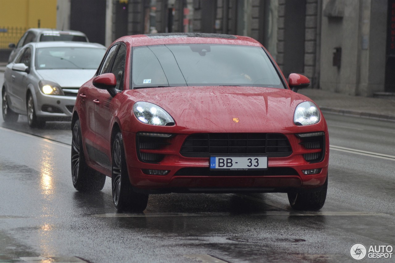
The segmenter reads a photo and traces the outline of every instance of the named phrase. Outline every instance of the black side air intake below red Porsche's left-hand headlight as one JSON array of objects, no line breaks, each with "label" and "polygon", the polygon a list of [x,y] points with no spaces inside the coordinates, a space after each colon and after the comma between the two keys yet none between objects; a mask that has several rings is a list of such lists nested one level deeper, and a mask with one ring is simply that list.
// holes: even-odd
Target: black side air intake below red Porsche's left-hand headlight
[{"label": "black side air intake below red Porsche's left-hand headlight", "polygon": [[170,145],[169,138],[171,136],[173,135],[161,137],[155,134],[137,133],[136,150],[139,160],[144,163],[159,163],[162,161],[165,155],[160,153],[160,150]]}]

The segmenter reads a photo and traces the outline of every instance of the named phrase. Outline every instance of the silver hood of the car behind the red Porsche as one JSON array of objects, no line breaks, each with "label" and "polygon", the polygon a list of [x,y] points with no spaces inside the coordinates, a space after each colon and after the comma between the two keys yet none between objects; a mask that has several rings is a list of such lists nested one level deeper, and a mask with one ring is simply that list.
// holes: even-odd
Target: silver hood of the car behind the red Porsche
[{"label": "silver hood of the car behind the red Porsche", "polygon": [[96,73],[95,69],[37,70],[42,79],[56,82],[60,87],[79,88]]}]

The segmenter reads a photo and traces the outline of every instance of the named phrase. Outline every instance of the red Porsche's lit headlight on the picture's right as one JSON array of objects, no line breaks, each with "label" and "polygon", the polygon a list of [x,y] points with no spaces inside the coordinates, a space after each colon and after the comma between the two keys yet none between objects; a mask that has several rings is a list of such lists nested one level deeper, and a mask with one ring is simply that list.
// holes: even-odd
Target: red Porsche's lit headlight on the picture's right
[{"label": "red Porsche's lit headlight on the picture's right", "polygon": [[312,125],[318,123],[320,118],[320,110],[318,110],[316,104],[305,101],[296,106],[293,123],[295,125]]}]

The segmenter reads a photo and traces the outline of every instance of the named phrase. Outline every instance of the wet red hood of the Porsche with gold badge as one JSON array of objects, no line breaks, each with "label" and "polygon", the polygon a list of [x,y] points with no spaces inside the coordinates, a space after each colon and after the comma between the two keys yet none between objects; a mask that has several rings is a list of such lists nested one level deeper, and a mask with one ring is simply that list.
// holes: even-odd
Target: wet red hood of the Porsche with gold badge
[{"label": "wet red hood of the Porsche with gold badge", "polygon": [[162,107],[178,127],[201,132],[292,132],[296,106],[310,100],[288,89],[262,87],[165,87],[126,93],[135,102]]}]

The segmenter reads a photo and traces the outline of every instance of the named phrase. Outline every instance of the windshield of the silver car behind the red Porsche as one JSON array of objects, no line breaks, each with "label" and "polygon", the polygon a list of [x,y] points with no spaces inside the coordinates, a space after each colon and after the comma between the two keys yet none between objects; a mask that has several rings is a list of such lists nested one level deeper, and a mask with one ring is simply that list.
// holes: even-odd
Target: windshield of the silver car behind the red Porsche
[{"label": "windshield of the silver car behind the red Porsche", "polygon": [[45,47],[36,50],[36,69],[97,69],[105,48]]}]

